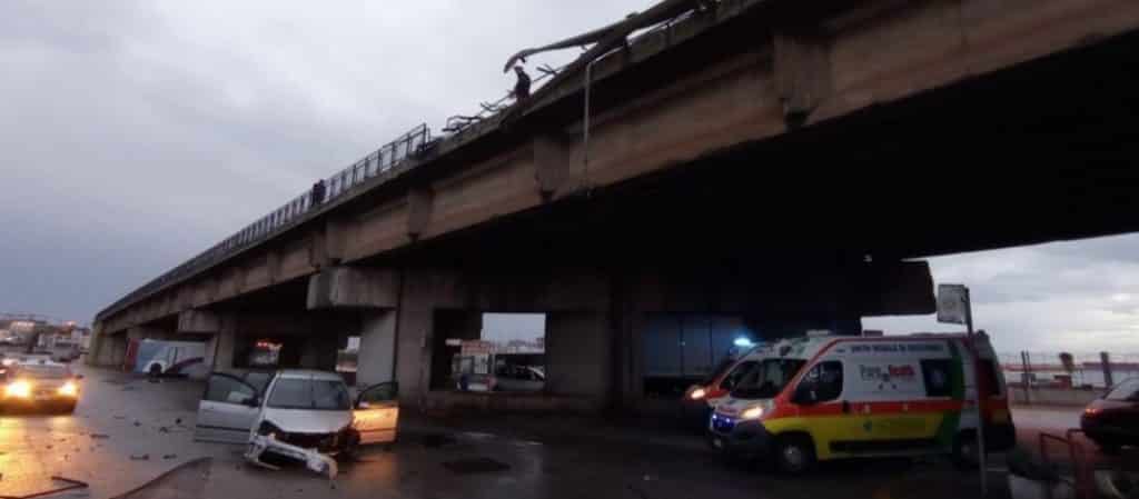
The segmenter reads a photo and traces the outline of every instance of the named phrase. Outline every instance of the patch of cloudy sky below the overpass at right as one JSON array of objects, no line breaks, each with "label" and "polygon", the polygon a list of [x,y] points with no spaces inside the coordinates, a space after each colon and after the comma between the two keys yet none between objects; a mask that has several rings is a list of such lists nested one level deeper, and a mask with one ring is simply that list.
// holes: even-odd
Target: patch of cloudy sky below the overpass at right
[{"label": "patch of cloudy sky below the overpass at right", "polygon": [[[1130,248],[1130,250],[1129,250]],[[931,259],[935,283],[969,286],[977,328],[997,349],[1139,352],[1139,236]],[[935,317],[865,319],[890,333],[956,332]]]}]

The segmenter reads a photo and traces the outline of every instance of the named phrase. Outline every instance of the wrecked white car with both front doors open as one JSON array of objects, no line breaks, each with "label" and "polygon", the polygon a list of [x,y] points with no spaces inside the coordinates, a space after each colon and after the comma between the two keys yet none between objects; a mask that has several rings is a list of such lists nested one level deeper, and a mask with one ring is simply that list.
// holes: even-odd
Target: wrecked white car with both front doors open
[{"label": "wrecked white car with both front doors open", "polygon": [[399,410],[394,383],[370,386],[353,403],[335,373],[214,373],[198,403],[194,437],[246,443],[246,459],[261,466],[272,467],[261,460],[268,452],[336,476],[331,456],[395,440]]}]

